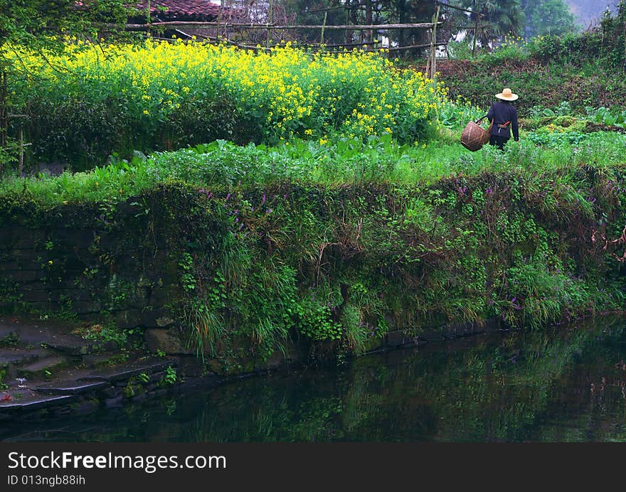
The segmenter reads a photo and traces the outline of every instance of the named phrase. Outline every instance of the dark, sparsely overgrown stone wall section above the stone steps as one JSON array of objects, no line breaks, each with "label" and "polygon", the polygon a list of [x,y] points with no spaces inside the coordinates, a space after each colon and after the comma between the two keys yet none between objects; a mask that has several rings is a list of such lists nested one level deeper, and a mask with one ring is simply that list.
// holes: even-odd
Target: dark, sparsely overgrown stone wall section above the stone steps
[{"label": "dark, sparsely overgrown stone wall section above the stone steps", "polygon": [[176,262],[145,229],[0,228],[0,310],[112,316],[117,326],[169,323]]}]

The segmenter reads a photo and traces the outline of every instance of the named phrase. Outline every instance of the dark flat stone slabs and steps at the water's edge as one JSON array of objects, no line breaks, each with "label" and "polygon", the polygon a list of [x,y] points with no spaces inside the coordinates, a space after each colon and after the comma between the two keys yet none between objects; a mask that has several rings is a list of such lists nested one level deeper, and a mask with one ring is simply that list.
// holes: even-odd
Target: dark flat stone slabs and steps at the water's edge
[{"label": "dark flat stone slabs and steps at the water's edge", "polygon": [[[0,316],[0,421],[83,415],[120,399],[157,395],[164,384],[174,386],[166,380],[166,369],[178,366],[176,358],[147,357],[145,351],[85,340],[72,333],[76,328],[85,325]],[[135,381],[142,373],[147,377]],[[132,391],[124,393],[131,383]]]}]

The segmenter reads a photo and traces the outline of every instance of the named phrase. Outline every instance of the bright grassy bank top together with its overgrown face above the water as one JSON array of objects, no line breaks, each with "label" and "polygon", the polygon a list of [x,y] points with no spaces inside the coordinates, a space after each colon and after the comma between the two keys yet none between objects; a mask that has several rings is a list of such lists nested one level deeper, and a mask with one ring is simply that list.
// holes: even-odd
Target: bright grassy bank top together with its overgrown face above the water
[{"label": "bright grassy bank top together with its overgrown face above the water", "polygon": [[497,316],[539,327],[623,308],[625,138],[584,139],[472,154],[445,141],[217,141],[4,181],[0,226],[43,230],[42,247],[59,228],[107,235],[90,246],[100,264],[65,278],[100,279],[96,297],[134,292],[130,249],[165,248],[177,284],[167,308],[222,358],[266,359],[295,339],[359,353],[389,326]]}]

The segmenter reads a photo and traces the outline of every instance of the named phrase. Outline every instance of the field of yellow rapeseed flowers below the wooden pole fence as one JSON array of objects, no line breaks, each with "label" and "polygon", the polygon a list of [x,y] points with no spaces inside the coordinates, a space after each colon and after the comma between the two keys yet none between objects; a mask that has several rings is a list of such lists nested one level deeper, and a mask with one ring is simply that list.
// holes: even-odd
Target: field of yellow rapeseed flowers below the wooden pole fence
[{"label": "field of yellow rapeseed flowers below the wooden pole fence", "polygon": [[[11,53],[6,56],[16,56]],[[231,121],[229,131],[242,141],[383,133],[411,141],[421,138],[446,95],[423,73],[398,70],[383,55],[360,50],[309,53],[287,44],[255,52],[196,41],[146,41],[74,43],[65,55],[46,58],[16,53],[28,77],[11,87],[11,104],[23,110],[42,102],[48,107],[80,102],[83,110],[106,105],[119,112],[115,122],[124,122],[119,132],[127,140],[140,135],[142,141],[156,139],[157,147],[163,145],[158,139],[167,133],[164,127],[170,134],[189,132],[182,129],[193,126],[187,120],[198,119],[206,107],[212,112],[201,115],[203,124]],[[182,141],[184,135],[176,138]]]}]

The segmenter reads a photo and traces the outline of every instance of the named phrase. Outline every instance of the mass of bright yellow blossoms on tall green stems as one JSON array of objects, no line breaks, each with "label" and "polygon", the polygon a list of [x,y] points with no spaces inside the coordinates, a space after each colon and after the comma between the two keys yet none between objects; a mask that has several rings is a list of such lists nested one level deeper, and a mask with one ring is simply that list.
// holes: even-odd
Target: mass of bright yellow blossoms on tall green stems
[{"label": "mass of bright yellow blossoms on tall green stems", "polygon": [[[226,97],[238,109],[259,114],[259,128],[253,131],[272,139],[289,138],[298,128],[309,136],[330,130],[356,137],[391,133],[396,124],[415,127],[432,119],[447,97],[446,87],[425,74],[394,68],[385,55],[360,50],[311,54],[285,43],[253,53],[196,40],[154,39],[103,49],[105,56],[70,48],[72,58],[53,56],[51,61],[81,75],[89,82],[85,90],[95,86],[100,94],[123,94],[144,117],[168,117],[195,97],[208,103]],[[35,87],[39,75],[64,86],[63,72],[35,55],[28,60],[38,77],[29,76],[16,98]],[[216,87],[221,87],[219,95]]]}]

